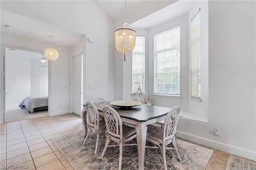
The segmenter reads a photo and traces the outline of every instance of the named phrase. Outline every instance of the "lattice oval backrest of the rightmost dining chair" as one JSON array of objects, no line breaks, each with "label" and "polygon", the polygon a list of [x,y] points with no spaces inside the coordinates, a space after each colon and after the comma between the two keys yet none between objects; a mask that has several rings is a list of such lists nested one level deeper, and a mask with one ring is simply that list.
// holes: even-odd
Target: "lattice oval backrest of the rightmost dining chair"
[{"label": "lattice oval backrest of the rightmost dining chair", "polygon": [[165,140],[171,139],[175,133],[180,116],[180,107],[173,107],[167,114],[164,121],[164,133],[163,137]]}]

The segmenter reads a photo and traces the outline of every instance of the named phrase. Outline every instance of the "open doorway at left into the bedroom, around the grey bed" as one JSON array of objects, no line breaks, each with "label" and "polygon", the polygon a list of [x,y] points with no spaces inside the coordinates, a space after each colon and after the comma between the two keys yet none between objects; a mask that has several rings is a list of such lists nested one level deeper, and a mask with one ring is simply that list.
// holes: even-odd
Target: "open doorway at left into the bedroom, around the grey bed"
[{"label": "open doorway at left into the bedroom, around the grey bed", "polygon": [[4,53],[4,122],[48,115],[46,109],[29,113],[19,107],[28,96],[42,96],[42,87],[48,96],[48,61],[42,63],[43,54],[33,51],[4,48]]}]

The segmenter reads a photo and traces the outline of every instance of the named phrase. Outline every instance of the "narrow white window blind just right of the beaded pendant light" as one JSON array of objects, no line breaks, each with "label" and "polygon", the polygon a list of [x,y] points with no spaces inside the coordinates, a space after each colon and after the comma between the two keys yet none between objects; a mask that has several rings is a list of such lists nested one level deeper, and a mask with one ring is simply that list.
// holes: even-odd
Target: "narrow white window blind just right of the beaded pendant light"
[{"label": "narrow white window blind just right of the beaded pendant light", "polygon": [[137,36],[132,51],[132,93],[138,90],[145,92],[145,37]]}]

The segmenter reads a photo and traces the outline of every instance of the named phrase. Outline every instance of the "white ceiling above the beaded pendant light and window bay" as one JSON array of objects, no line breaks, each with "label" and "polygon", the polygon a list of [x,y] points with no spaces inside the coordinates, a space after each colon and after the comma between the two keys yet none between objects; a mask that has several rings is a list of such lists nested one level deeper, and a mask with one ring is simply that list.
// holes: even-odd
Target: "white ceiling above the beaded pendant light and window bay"
[{"label": "white ceiling above the beaded pendant light and window bay", "polygon": [[[124,18],[125,2],[122,0],[95,0],[94,1],[113,21]],[[167,21],[173,20],[180,16],[188,14],[193,8],[196,1],[194,0],[165,0],[164,8],[138,20],[130,23],[132,28],[148,29],[160,25]],[[127,0],[126,13],[138,12],[144,6],[154,8],[154,5],[162,3],[160,0]],[[114,5],[113,5],[114,4]],[[166,15],[168,14],[168,15]],[[127,15],[127,17],[129,17]]]}]

